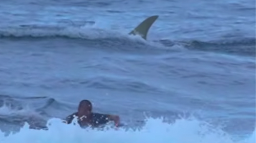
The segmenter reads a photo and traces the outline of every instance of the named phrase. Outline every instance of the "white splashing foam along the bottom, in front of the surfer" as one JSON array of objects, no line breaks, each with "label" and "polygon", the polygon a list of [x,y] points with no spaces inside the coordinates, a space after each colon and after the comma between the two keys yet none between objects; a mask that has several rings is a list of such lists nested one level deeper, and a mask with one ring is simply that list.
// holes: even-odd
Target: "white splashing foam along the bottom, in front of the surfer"
[{"label": "white splashing foam along the bottom, in front of the surfer", "polygon": [[[73,123],[76,123],[74,121]],[[122,128],[96,130],[81,129],[77,124],[63,124],[59,119],[48,121],[49,130],[29,129],[28,124],[18,132],[4,136],[0,132],[1,143],[234,143],[232,137],[222,130],[212,128],[206,123],[198,120],[181,119],[174,124],[163,123],[162,119],[148,119],[146,125],[140,130],[125,130]],[[239,143],[255,142],[255,130],[251,137]]]}]

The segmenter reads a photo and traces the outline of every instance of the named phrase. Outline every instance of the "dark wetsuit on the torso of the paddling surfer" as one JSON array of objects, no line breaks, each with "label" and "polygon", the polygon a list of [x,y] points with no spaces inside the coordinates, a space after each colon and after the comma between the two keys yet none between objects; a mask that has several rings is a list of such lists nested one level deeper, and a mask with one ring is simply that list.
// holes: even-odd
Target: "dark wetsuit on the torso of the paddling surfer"
[{"label": "dark wetsuit on the torso of the paddling surfer", "polygon": [[[68,124],[70,124],[73,121],[74,116],[77,116],[77,112],[73,113],[72,115],[70,115],[66,118],[66,121]],[[92,113],[92,115],[90,117],[91,117],[91,119],[90,119],[89,124],[93,127],[97,127],[99,125],[106,124],[110,121],[108,115],[104,115],[101,113]],[[81,121],[78,120],[78,124],[81,126]]]}]

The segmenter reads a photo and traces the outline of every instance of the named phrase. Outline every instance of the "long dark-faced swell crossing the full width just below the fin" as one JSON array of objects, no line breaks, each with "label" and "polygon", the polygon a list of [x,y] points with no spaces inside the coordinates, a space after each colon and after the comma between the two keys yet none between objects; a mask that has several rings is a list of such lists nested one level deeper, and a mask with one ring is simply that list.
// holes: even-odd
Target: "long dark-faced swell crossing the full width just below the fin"
[{"label": "long dark-faced swell crossing the full width just below the fin", "polygon": [[[144,41],[141,38],[129,36],[126,33],[101,30],[93,27],[49,27],[27,25],[0,29],[0,40],[10,40],[15,42],[24,40],[29,42],[52,40],[52,42],[59,42],[54,41],[58,39],[62,39],[63,42],[80,43],[87,47],[97,46],[102,49],[118,51],[138,52],[140,50],[152,50],[152,52],[163,52],[164,50],[164,52],[166,52],[166,50],[169,51],[170,49],[174,49],[175,46],[181,46],[190,50],[256,56],[256,38],[236,38],[232,40],[220,39],[218,41],[200,41],[193,39],[188,41],[162,39]],[[160,45],[154,43],[160,43]]]}]

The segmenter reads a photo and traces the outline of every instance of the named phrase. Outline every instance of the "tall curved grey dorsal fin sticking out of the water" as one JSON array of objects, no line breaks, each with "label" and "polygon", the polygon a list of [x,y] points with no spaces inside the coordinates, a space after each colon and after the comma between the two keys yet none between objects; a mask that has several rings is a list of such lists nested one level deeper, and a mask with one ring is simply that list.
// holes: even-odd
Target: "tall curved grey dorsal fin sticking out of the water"
[{"label": "tall curved grey dorsal fin sticking out of the water", "polygon": [[129,33],[129,35],[140,35],[143,39],[146,40],[147,32],[150,29],[151,25],[157,20],[158,15],[154,15],[146,18],[142,21],[133,31]]}]

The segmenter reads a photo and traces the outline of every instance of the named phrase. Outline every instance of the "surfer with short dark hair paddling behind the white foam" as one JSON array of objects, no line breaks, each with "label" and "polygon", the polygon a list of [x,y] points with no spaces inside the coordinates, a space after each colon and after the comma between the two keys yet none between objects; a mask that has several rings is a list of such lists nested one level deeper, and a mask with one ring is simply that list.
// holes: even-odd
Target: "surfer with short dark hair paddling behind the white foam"
[{"label": "surfer with short dark hair paddling behind the white foam", "polygon": [[70,124],[72,120],[77,117],[78,124],[81,127],[92,126],[97,127],[99,125],[106,124],[110,121],[115,122],[115,126],[119,126],[120,119],[116,115],[105,115],[101,113],[92,112],[92,103],[89,100],[82,100],[79,103],[77,112],[74,112],[72,115],[69,115],[66,118],[66,123]]}]

